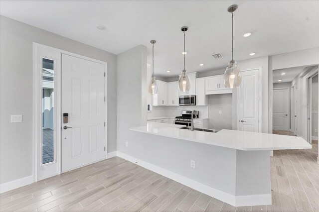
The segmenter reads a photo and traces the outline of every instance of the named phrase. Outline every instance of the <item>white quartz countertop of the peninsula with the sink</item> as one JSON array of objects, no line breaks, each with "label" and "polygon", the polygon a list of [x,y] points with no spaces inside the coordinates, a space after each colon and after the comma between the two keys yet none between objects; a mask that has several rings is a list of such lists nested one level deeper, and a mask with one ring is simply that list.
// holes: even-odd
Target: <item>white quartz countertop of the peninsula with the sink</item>
[{"label": "white quartz countertop of the peninsula with the sink", "polygon": [[218,132],[180,129],[183,125],[149,122],[146,126],[130,128],[133,131],[177,138],[226,148],[255,151],[279,149],[311,149],[303,138],[259,132],[222,129]]}]

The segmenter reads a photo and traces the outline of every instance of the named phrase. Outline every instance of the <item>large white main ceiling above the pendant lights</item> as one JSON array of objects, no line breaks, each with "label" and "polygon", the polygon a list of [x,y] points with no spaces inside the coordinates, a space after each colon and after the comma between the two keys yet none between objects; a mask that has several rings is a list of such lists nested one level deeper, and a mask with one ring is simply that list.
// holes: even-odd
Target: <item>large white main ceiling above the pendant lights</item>
[{"label": "large white main ceiling above the pendant lights", "polygon": [[227,66],[234,3],[235,60],[319,46],[318,0],[0,0],[0,14],[114,54],[143,44],[148,61],[155,39],[155,75],[170,77],[183,68],[181,26],[188,72]]}]

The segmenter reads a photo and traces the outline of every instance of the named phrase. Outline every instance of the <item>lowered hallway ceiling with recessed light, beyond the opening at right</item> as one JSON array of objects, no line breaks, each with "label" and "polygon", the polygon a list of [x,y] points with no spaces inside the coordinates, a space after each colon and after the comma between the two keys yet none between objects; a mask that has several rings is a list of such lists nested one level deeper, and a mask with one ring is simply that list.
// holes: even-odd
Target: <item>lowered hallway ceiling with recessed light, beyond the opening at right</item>
[{"label": "lowered hallway ceiling with recessed light, beyond the opening at right", "polygon": [[[293,81],[307,66],[299,66],[287,69],[277,69],[273,71],[273,82],[274,83],[286,83]],[[285,73],[285,75],[282,75]],[[279,82],[278,80],[282,80]]]}]

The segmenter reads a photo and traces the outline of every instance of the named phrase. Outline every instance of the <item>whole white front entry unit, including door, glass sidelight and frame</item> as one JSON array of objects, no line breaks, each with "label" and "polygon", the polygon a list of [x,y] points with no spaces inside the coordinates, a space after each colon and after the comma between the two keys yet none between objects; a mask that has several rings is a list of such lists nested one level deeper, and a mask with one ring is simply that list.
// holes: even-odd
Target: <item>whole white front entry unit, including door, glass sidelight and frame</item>
[{"label": "whole white front entry unit, including door, glass sidelight and frame", "polygon": [[33,43],[35,182],[106,158],[106,68]]}]

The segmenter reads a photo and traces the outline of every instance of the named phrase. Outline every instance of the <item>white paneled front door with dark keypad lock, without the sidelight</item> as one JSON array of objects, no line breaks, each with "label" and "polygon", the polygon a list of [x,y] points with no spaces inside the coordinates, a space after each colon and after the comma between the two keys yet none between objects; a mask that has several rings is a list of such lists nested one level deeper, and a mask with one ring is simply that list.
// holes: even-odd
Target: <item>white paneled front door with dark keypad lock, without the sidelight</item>
[{"label": "white paneled front door with dark keypad lock, without the sidelight", "polygon": [[103,160],[104,64],[62,54],[62,113],[62,172]]}]

